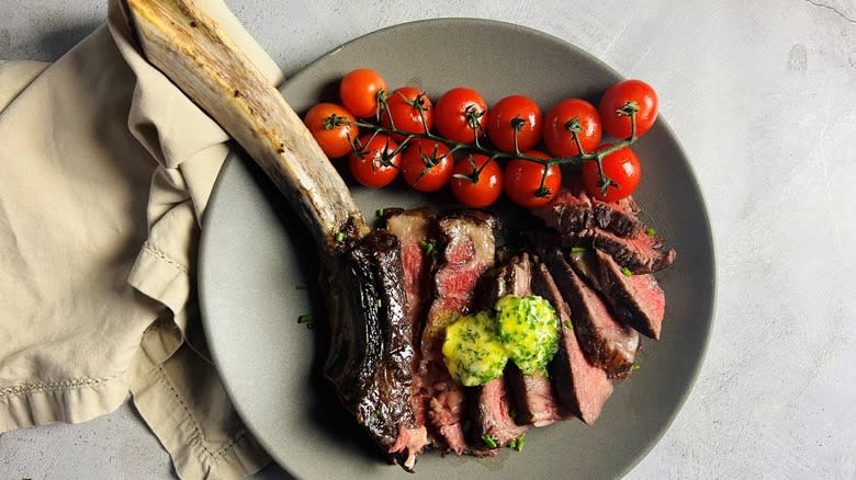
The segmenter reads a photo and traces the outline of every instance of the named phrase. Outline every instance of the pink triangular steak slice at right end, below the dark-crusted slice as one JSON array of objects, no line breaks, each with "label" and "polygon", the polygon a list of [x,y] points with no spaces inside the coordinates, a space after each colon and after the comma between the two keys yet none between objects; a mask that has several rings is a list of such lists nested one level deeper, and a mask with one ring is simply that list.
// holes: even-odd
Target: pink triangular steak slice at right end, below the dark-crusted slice
[{"label": "pink triangular steak slice at right end, below the dark-crusted slice", "polygon": [[639,333],[660,340],[666,297],[654,275],[626,275],[608,254],[596,250],[595,255],[600,271],[598,289],[616,317]]}]

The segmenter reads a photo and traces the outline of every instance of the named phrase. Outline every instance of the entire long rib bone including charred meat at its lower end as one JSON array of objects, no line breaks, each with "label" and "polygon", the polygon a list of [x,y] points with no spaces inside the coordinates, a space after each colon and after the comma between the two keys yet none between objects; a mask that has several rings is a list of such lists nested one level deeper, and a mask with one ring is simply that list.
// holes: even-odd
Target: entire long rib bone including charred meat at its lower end
[{"label": "entire long rib bone including charred meat at its lower end", "polygon": [[[405,468],[427,443],[416,423],[414,339],[397,239],[369,227],[296,113],[192,0],[126,0],[148,58],[244,147],[320,250],[333,343],[326,375],[371,437]],[[348,289],[346,282],[360,290]],[[380,340],[380,341],[379,341]]]}]

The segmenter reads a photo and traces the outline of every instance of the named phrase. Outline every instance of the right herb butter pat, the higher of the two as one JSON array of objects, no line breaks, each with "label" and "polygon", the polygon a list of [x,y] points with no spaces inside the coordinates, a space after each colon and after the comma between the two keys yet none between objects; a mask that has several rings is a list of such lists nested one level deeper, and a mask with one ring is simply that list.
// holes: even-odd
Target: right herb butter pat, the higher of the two
[{"label": "right herb butter pat, the higher of the two", "polygon": [[506,295],[496,302],[499,341],[526,375],[547,374],[559,344],[555,309],[539,296]]}]

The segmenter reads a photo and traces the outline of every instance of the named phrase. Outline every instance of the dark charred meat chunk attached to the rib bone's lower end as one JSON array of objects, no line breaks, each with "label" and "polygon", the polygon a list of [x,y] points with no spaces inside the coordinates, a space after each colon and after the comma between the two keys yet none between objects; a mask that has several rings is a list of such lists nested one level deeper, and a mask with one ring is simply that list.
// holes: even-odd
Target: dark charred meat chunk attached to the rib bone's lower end
[{"label": "dark charred meat chunk attached to the rib bone's lower end", "polygon": [[[369,435],[409,469],[420,446],[413,395],[415,348],[398,239],[375,230],[343,256],[325,376]],[[410,448],[417,448],[412,450]]]}]

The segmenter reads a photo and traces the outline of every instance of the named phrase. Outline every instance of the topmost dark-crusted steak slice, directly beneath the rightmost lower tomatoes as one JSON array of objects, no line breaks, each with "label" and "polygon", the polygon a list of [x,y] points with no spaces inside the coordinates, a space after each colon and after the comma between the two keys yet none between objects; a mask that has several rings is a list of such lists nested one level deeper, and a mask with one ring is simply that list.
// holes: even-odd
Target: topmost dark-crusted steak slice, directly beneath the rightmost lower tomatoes
[{"label": "topmost dark-crusted steak slice, directly beneath the rightmost lower tomatoes", "polygon": [[601,202],[586,194],[575,179],[565,182],[552,201],[532,213],[548,227],[563,235],[578,236],[600,228],[619,237],[635,237],[644,230],[637,218],[639,207],[628,197],[619,202]]}]

